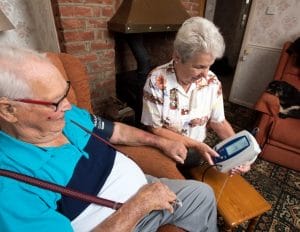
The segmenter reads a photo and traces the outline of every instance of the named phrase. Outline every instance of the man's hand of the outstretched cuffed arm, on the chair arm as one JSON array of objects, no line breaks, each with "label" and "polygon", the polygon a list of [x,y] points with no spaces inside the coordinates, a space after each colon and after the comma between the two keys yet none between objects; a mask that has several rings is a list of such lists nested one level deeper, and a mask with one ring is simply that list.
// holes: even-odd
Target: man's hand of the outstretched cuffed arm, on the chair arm
[{"label": "man's hand of the outstretched cuffed arm, on the chair arm", "polygon": [[187,149],[183,143],[179,141],[166,140],[161,149],[171,159],[181,164],[184,163],[187,155]]}]

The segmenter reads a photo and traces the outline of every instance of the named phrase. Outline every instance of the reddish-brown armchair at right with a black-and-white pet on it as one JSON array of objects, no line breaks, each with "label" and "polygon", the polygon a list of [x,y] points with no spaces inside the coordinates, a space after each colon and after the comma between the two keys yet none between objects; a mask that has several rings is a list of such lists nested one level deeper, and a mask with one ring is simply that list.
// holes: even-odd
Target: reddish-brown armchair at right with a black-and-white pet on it
[{"label": "reddish-brown armchair at right with a black-and-white pet on it", "polygon": [[[286,81],[300,89],[300,68],[296,66],[296,54],[289,54],[291,42],[284,44],[274,80]],[[261,112],[258,123],[261,157],[284,167],[300,171],[300,119],[279,118],[279,99],[263,93],[255,105]]]}]

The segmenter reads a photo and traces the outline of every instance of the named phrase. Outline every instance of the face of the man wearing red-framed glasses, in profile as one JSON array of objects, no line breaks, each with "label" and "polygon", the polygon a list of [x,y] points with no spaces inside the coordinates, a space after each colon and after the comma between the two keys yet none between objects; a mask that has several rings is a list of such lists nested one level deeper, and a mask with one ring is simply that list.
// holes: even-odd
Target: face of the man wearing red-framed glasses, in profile
[{"label": "face of the man wearing red-framed glasses, in profile", "polygon": [[71,105],[66,99],[68,84],[61,74],[56,69],[44,73],[45,75],[40,74],[43,78],[33,79],[31,82],[33,99],[15,101],[17,108],[15,125],[23,135],[33,133],[46,141],[62,132],[65,125],[64,113]]}]

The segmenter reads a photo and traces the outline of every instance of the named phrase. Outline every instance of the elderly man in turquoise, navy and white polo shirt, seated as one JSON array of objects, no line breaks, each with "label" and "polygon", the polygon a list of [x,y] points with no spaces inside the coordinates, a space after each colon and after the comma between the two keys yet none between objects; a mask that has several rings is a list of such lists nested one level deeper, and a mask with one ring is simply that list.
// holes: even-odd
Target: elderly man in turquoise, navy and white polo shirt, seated
[{"label": "elderly man in turquoise, navy and white polo shirt, seated", "polygon": [[[124,202],[118,210],[0,177],[2,231],[156,231],[174,224],[217,231],[214,194],[193,180],[146,176],[115,144],[150,145],[170,156],[183,144],[112,123],[69,103],[70,83],[42,54],[0,46],[0,166]],[[182,206],[174,206],[176,198]]]}]

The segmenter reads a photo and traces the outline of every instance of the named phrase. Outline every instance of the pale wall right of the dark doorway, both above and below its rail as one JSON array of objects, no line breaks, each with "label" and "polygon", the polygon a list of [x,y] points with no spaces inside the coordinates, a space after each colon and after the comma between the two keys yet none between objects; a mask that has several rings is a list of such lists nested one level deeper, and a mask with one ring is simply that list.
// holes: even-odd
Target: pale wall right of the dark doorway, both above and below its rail
[{"label": "pale wall right of the dark doorway, both above and below its rail", "polygon": [[300,36],[300,0],[253,0],[229,100],[253,108],[273,80],[284,42]]}]

